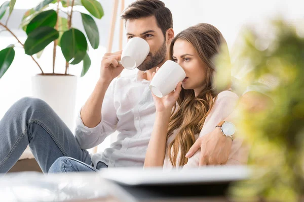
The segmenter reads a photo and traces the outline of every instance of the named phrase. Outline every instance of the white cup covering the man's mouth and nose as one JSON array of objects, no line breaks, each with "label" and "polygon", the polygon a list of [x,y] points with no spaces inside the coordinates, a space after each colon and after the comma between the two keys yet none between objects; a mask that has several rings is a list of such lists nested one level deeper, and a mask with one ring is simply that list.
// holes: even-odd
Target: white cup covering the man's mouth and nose
[{"label": "white cup covering the man's mouth and nose", "polygon": [[126,69],[135,69],[143,63],[149,52],[148,42],[140,37],[131,38],[123,49],[119,63]]}]

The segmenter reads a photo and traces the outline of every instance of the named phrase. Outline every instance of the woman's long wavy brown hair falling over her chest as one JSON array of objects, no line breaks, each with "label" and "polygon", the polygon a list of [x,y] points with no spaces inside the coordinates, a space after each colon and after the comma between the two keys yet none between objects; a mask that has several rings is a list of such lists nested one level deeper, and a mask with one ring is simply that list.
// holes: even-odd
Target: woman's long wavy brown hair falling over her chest
[{"label": "woman's long wavy brown hair falling over her chest", "polygon": [[[188,159],[185,155],[195,142],[195,134],[200,133],[204,122],[213,106],[213,98],[217,92],[212,85],[212,77],[215,72],[213,58],[220,52],[226,41],[220,31],[214,26],[201,23],[189,27],[172,40],[170,46],[170,59],[173,56],[173,46],[176,40],[185,40],[196,49],[200,59],[204,62],[207,70],[205,88],[195,96],[194,90],[182,89],[177,99],[176,112],[171,116],[167,139],[178,129],[177,135],[168,146],[168,155],[173,166],[183,166]],[[180,154],[180,156],[179,156]],[[179,156],[179,162],[177,162]]]}]

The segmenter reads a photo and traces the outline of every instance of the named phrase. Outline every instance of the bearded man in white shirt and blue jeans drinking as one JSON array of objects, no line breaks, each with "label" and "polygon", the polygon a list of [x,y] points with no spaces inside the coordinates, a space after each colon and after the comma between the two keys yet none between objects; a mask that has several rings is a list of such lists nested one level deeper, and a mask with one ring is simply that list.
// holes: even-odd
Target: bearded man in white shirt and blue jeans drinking
[{"label": "bearded man in white shirt and blue jeans drinking", "polygon": [[[79,115],[75,137],[42,100],[19,100],[0,121],[0,173],[10,170],[28,144],[44,173],[143,166],[155,120],[148,84],[156,67],[169,58],[173,20],[170,10],[158,0],[134,2],[122,18],[126,21],[128,39],[141,37],[150,46],[148,57],[138,67],[141,70],[138,75],[115,79],[123,70],[118,63],[121,52],[105,54],[100,78]],[[118,140],[102,154],[91,157],[86,149],[100,144],[116,130],[120,132]],[[218,130],[208,136],[208,141],[200,140],[200,145],[217,145],[214,155],[208,155],[204,164],[224,163],[231,141]],[[201,157],[206,156],[201,153]]]}]

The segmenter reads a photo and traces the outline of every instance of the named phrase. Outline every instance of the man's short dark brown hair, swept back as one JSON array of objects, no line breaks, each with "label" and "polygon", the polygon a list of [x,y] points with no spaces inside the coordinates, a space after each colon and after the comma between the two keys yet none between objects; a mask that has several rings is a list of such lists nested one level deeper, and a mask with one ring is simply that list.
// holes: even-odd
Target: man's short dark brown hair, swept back
[{"label": "man's short dark brown hair, swept back", "polygon": [[157,25],[161,28],[164,36],[166,31],[173,28],[173,19],[171,11],[165,7],[165,3],[159,0],[138,0],[130,4],[122,13],[124,20],[133,20],[155,16]]}]

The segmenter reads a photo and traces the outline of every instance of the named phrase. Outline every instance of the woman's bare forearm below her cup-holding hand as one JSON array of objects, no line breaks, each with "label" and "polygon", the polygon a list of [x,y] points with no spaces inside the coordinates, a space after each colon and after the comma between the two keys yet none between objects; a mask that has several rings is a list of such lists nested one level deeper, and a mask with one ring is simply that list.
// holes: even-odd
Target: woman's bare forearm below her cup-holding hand
[{"label": "woman's bare forearm below her cup-holding hand", "polygon": [[147,148],[144,167],[162,167],[166,154],[167,131],[171,112],[157,112]]}]

